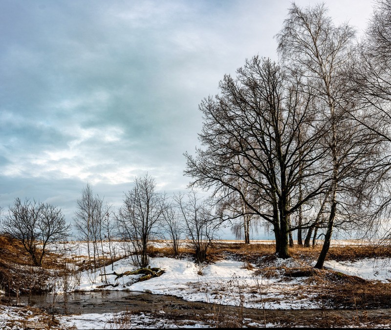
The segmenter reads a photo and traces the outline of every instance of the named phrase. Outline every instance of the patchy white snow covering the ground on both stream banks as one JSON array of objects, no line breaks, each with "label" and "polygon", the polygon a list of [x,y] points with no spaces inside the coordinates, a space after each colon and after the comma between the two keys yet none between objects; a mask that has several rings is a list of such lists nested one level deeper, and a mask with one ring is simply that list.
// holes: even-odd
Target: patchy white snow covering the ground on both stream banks
[{"label": "patchy white snow covering the ground on both stream banks", "polygon": [[[156,243],[159,247],[164,243]],[[87,255],[87,244],[70,242],[63,245],[52,246],[52,250],[60,250],[66,246],[68,256],[80,258]],[[108,248],[108,247],[107,247]],[[127,247],[122,242],[114,242],[110,248],[114,248],[117,256],[125,256]],[[276,259],[269,261],[268,267],[278,272],[279,269],[298,269],[308,266],[307,261],[299,259]],[[314,263],[313,263],[314,265]],[[196,265],[190,259],[174,259],[168,257],[151,258],[150,266],[162,268],[164,274],[144,282],[136,282],[139,275],[123,276],[116,279],[114,271],[123,273],[134,270],[130,257],[124,257],[105,269],[96,271],[75,272],[69,274],[67,285],[69,290],[91,291],[105,290],[129,290],[145,291],[154,294],[173,295],[187,301],[199,301],[217,303],[221,305],[242,306],[258,309],[320,309],[317,300],[313,299],[316,283],[309,283],[308,277],[282,278],[282,276],[266,276],[257,272],[256,265],[244,268],[243,262],[233,260],[220,260],[209,265]],[[367,280],[376,280],[384,283],[391,282],[391,267],[389,259],[366,258],[354,262],[327,261],[325,267],[354,275]],[[106,276],[103,274],[106,273]],[[58,292],[63,287],[58,282]],[[303,287],[314,286],[303,291]],[[9,307],[0,306],[0,324],[9,318],[17,318],[17,312]],[[14,314],[13,314],[14,313]],[[61,327],[76,329],[103,329],[113,326],[113,319],[121,314],[82,314],[58,317]],[[39,320],[37,321],[39,322]],[[170,321],[152,320],[148,314],[132,315],[129,327],[165,328],[177,327]],[[159,323],[160,322],[160,323]],[[162,323],[163,322],[163,323]],[[5,323],[4,323],[5,324]],[[142,326],[144,325],[144,326]],[[194,324],[193,327],[205,325]],[[6,329],[6,328],[4,328]],[[10,328],[11,329],[11,328]],[[17,328],[13,328],[17,329]]]}]

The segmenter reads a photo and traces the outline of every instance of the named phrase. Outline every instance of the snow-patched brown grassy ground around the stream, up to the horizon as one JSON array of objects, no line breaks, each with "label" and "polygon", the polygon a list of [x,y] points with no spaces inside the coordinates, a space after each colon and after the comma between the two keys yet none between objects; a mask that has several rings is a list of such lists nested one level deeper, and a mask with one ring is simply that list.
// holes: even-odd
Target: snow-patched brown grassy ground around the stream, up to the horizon
[{"label": "snow-patched brown grassy ground around the stream, up to the horizon", "polygon": [[[137,282],[140,275],[117,276],[136,269],[126,242],[113,242],[113,263],[108,262],[108,243],[101,247],[106,254],[95,260],[95,267],[87,258],[85,242],[65,242],[52,245],[43,268],[36,268],[21,247],[1,238],[4,329],[38,329],[43,324],[51,329],[391,326],[387,247],[334,241],[325,269],[319,270],[313,266],[321,247],[290,248],[292,258],[283,260],[273,253],[271,241],[247,246],[218,241],[208,252],[208,262],[196,265],[187,242],[173,258],[169,242],[157,241],[149,250],[150,266],[164,273],[142,282]],[[72,314],[69,292],[88,297],[88,292],[102,290],[145,292],[144,300],[154,300],[146,308],[139,304],[117,312],[86,309],[79,315],[63,315],[66,304],[67,314]],[[52,304],[25,306],[29,296],[47,292],[52,293]]]}]

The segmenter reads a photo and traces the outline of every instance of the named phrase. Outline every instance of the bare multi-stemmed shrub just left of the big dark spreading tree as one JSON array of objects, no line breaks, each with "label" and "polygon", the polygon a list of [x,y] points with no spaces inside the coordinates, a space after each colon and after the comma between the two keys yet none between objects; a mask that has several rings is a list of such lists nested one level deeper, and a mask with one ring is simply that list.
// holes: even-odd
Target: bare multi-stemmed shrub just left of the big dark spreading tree
[{"label": "bare multi-stemmed shrub just left of the big dark spreading tree", "polygon": [[207,251],[217,230],[216,217],[206,201],[197,196],[195,190],[187,194],[178,193],[174,200],[179,208],[185,233],[191,239],[195,250],[195,262],[206,261]]}]

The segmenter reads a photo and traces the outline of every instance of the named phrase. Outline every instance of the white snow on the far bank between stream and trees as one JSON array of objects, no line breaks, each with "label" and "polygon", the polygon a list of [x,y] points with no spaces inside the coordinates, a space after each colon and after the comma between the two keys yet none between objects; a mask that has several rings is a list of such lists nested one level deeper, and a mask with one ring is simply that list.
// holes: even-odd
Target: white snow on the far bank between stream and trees
[{"label": "white snow on the far bank between stream and trees", "polygon": [[[385,267],[387,260],[363,259],[355,262],[327,261],[325,266],[335,271],[359,276],[368,280],[382,282],[391,281],[390,268]],[[304,262],[295,259],[276,259],[270,265],[276,269],[300,268]],[[313,263],[314,265],[314,263]],[[145,291],[154,294],[174,295],[187,301],[210,302],[222,305],[243,306],[249,308],[268,309],[317,309],[317,302],[311,295],[302,295],[292,300],[294,292],[299,292],[305,283],[305,277],[292,277],[282,281],[280,276],[266,278],[256,275],[254,270],[244,267],[244,263],[232,260],[221,260],[209,265],[196,265],[189,259],[152,258],[150,266],[162,268],[165,273],[148,281],[137,282],[139,275],[123,276],[107,275],[107,283],[113,286],[108,290]],[[255,265],[252,265],[255,268]],[[124,258],[113,264],[116,273],[134,270],[131,259]],[[111,266],[106,273],[112,273]],[[90,273],[84,271],[77,290],[96,290],[106,285],[103,269]],[[92,281],[91,281],[92,280]],[[315,284],[314,284],[315,285]],[[267,299],[266,299],[267,298]],[[261,302],[261,299],[263,302]],[[267,300],[265,302],[265,300]]]}]

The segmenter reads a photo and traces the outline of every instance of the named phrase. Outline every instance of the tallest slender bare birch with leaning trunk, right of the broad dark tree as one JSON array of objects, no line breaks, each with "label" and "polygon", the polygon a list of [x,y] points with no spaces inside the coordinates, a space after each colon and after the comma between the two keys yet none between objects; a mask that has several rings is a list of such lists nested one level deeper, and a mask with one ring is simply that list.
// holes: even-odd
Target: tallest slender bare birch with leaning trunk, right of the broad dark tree
[{"label": "tallest slender bare birch with leaning trunk, right of the broad dark tree", "polygon": [[350,208],[352,212],[353,205],[360,204],[358,197],[363,199],[372,169],[377,165],[381,143],[351,116],[360,113],[345,88],[354,30],[348,24],[335,26],[326,12],[325,4],[300,8],[293,3],[277,35],[278,50],[285,64],[299,72],[304,77],[303,83],[315,90],[314,102],[329,131],[323,144],[331,164],[330,208],[316,268],[323,267],[335,220],[342,218],[341,224],[351,221],[351,213],[344,210]]}]

